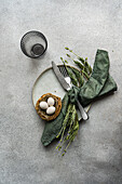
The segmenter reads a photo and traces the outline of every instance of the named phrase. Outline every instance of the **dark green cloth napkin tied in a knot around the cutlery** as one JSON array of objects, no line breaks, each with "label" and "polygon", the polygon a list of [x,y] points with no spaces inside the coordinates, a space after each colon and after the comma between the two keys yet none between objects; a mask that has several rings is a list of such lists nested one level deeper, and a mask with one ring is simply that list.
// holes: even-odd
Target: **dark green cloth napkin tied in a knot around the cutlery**
[{"label": "dark green cloth napkin tied in a knot around the cutlery", "polygon": [[117,91],[117,83],[109,75],[109,66],[108,52],[97,50],[90,79],[81,88],[72,87],[63,98],[63,108],[59,116],[55,120],[45,123],[41,137],[44,146],[48,146],[59,133],[69,103],[77,104],[77,98],[79,98],[79,102],[85,107],[96,98]]}]

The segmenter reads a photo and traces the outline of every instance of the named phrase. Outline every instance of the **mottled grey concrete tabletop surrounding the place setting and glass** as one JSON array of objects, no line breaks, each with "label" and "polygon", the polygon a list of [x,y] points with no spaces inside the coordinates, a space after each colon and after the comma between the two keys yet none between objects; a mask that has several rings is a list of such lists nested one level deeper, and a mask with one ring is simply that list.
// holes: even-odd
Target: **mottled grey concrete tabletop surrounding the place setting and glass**
[{"label": "mottled grey concrete tabletop surrounding the place setting and glass", "polygon": [[[39,60],[19,48],[22,36],[33,29],[49,41]],[[107,50],[118,92],[93,104],[90,120],[62,158],[56,142],[41,144],[44,122],[31,90],[52,60],[62,63],[66,45],[92,65],[96,50]],[[0,184],[121,184],[122,1],[1,0],[0,93]]]}]

